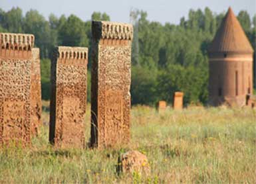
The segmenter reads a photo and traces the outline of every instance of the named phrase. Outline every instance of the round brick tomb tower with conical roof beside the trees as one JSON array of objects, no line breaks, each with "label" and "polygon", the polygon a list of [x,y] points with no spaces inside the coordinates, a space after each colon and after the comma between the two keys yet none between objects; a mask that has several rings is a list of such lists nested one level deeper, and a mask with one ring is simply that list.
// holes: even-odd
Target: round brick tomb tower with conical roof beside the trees
[{"label": "round brick tomb tower with conical roof beside the trees", "polygon": [[229,7],[209,48],[209,104],[243,106],[253,92],[253,48]]}]

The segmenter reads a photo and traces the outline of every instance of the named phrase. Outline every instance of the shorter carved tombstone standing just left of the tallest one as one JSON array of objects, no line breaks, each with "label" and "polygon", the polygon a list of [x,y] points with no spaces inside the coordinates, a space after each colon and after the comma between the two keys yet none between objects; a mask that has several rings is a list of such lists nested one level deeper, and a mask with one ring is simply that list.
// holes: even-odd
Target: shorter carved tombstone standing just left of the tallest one
[{"label": "shorter carved tombstone standing just left of the tallest one", "polygon": [[88,48],[59,46],[51,64],[50,142],[84,148]]}]

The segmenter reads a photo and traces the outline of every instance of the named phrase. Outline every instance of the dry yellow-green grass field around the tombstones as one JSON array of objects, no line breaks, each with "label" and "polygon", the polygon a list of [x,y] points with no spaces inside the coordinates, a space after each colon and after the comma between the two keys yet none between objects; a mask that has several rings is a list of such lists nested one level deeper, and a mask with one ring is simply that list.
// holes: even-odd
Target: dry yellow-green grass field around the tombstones
[{"label": "dry yellow-green grass field around the tombstones", "polygon": [[[25,150],[0,150],[0,183],[255,183],[255,124],[252,109],[190,107],[158,113],[132,108],[131,142],[108,150],[54,150],[48,144],[44,102],[39,137]],[[86,113],[86,141],[90,138]],[[118,175],[118,156],[139,150],[151,175]]]}]

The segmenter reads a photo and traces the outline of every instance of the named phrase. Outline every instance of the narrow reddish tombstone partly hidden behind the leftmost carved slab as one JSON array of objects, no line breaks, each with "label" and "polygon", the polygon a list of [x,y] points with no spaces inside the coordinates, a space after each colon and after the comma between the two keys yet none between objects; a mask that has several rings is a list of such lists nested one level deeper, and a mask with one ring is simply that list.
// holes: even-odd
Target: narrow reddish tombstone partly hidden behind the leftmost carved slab
[{"label": "narrow reddish tombstone partly hidden behind the leftmost carved slab", "polygon": [[41,71],[39,48],[32,48],[31,68],[31,122],[32,132],[37,135],[39,126],[42,124],[42,101],[41,101]]}]

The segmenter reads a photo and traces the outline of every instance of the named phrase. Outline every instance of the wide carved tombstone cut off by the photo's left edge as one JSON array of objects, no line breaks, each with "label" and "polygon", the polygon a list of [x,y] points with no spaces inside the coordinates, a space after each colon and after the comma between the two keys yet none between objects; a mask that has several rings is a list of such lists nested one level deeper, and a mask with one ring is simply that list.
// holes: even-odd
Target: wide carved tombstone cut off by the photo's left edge
[{"label": "wide carved tombstone cut off by the photo's left edge", "polygon": [[32,34],[0,33],[0,144],[31,144]]}]

